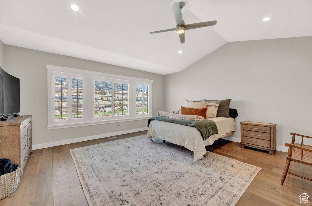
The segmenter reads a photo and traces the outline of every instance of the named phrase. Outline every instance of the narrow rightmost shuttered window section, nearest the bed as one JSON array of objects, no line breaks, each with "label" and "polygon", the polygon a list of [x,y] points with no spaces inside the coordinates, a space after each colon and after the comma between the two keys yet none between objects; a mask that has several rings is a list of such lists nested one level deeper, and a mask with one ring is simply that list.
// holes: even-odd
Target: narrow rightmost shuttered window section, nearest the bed
[{"label": "narrow rightmost shuttered window section, nearest the bed", "polygon": [[150,115],[150,84],[147,82],[136,82],[135,83],[135,95],[136,95],[136,113],[139,116]]}]

